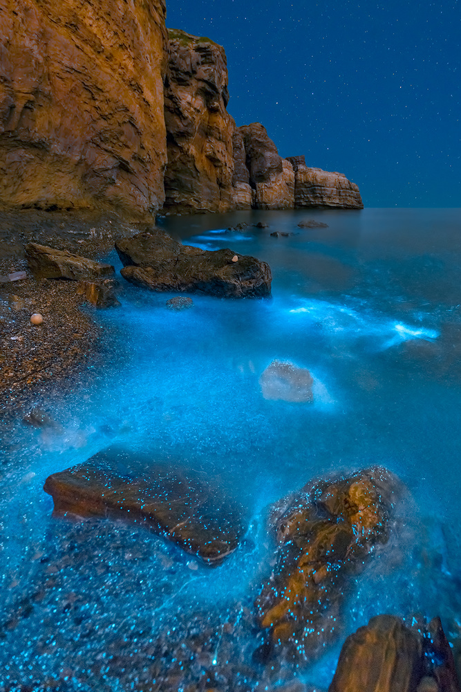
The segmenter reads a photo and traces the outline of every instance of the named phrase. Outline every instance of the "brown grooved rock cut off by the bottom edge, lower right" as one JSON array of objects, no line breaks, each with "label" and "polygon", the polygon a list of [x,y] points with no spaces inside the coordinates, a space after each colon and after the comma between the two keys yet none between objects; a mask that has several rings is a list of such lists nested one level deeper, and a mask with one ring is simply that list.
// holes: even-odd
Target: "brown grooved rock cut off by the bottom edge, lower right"
[{"label": "brown grooved rock cut off by the bottom edge, lower right", "polygon": [[346,639],[329,692],[415,692],[421,676],[420,637],[379,615]]}]

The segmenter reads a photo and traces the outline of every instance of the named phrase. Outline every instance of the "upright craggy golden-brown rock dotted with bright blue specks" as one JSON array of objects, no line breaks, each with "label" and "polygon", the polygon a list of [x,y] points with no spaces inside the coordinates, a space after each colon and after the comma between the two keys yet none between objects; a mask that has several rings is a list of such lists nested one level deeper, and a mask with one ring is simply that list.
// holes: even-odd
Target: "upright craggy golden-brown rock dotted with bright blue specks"
[{"label": "upright craggy golden-brown rock dotted with bright blue specks", "polygon": [[389,471],[376,467],[305,486],[274,509],[276,565],[256,607],[267,637],[285,655],[312,659],[337,636],[348,576],[388,540],[399,489]]}]

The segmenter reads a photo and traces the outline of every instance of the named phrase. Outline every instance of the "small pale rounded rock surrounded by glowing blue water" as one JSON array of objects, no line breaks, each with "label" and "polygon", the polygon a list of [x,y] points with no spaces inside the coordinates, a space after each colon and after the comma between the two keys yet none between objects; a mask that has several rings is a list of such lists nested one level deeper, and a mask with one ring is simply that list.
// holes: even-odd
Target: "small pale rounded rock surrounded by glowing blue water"
[{"label": "small pale rounded rock surrounded by glowing blue water", "polygon": [[293,363],[272,361],[259,379],[263,397],[270,401],[305,403],[314,400],[309,370]]}]

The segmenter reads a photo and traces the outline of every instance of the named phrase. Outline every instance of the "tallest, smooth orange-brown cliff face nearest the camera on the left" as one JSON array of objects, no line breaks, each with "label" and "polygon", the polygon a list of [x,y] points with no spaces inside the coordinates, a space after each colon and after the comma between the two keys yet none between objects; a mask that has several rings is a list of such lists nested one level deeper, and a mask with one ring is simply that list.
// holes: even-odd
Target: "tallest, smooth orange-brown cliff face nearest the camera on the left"
[{"label": "tallest, smooth orange-brown cliff face nearest the camera on the left", "polygon": [[0,204],[162,206],[165,12],[164,0],[3,0]]}]

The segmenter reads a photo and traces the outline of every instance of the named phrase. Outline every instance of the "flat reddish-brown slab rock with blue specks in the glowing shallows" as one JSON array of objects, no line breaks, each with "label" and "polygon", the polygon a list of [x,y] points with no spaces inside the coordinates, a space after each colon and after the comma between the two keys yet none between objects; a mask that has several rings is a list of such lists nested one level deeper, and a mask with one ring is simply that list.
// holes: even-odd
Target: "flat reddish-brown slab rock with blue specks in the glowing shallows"
[{"label": "flat reddish-brown slab rock with blue specks in the glowing shallows", "polygon": [[246,530],[243,509],[206,480],[117,448],[50,475],[44,490],[54,516],[138,522],[207,564],[234,552]]}]

